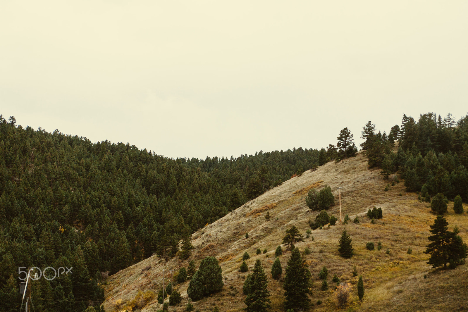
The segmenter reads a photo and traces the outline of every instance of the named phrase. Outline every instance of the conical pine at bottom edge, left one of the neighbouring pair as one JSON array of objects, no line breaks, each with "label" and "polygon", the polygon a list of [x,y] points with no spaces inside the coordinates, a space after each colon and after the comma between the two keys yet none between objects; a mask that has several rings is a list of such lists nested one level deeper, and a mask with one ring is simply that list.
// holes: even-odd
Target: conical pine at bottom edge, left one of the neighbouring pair
[{"label": "conical pine at bottom edge, left one of the neighbouring pair", "polygon": [[270,291],[267,290],[268,281],[263,271],[262,262],[257,259],[250,278],[249,294],[244,303],[249,312],[266,312],[271,308]]}]

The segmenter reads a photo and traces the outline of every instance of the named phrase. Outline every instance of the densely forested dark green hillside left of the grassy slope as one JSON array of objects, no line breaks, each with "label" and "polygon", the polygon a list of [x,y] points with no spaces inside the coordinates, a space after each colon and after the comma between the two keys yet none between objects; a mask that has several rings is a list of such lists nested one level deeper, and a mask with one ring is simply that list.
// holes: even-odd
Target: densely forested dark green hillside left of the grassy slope
[{"label": "densely forested dark green hillside left of the grassy slope", "polygon": [[169,159],[0,115],[1,310],[18,306],[18,267],[73,267],[73,275],[33,284],[37,311],[100,303],[103,275],[153,253],[174,256],[183,235],[335,158],[330,146]]}]

